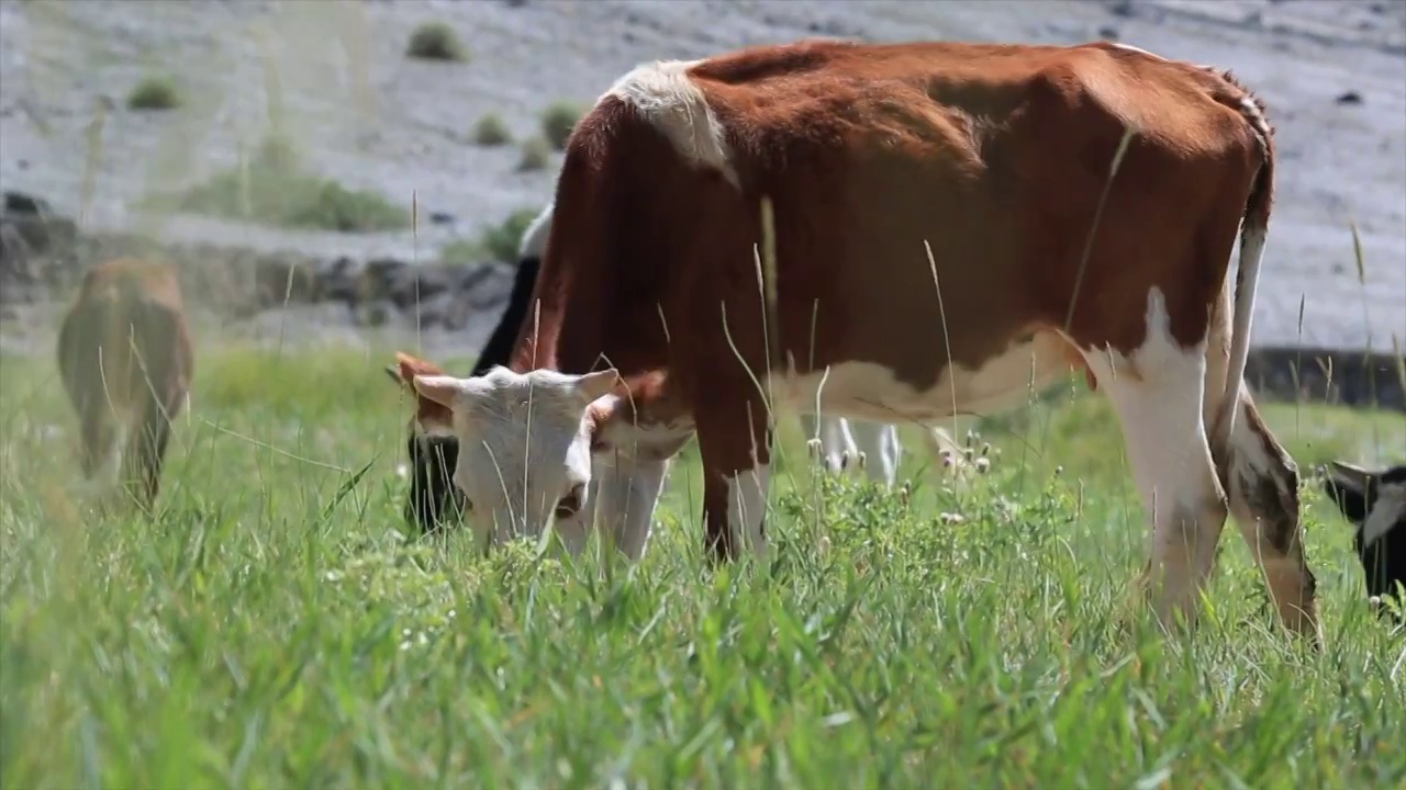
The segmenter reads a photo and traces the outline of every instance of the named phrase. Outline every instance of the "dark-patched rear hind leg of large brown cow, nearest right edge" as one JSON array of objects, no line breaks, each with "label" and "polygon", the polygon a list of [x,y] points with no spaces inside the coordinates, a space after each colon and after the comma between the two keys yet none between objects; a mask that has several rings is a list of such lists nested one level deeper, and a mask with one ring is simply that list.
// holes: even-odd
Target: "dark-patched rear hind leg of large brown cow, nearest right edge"
[{"label": "dark-patched rear hind leg of large brown cow, nearest right edge", "polygon": [[1229,455],[1230,512],[1250,555],[1264,572],[1284,624],[1317,641],[1317,581],[1303,555],[1299,471],[1244,388]]}]

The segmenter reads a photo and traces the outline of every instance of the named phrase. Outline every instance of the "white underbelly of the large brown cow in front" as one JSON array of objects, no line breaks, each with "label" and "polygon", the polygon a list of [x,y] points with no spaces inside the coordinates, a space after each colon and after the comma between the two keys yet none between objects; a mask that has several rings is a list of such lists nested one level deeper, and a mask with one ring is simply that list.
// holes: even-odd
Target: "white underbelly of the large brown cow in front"
[{"label": "white underbelly of the large brown cow in front", "polygon": [[946,365],[925,389],[898,381],[873,363],[841,363],[824,373],[772,377],[772,389],[803,413],[884,423],[934,423],[953,415],[993,415],[1028,403],[1035,392],[1069,375],[1063,340],[1036,336],[1014,344],[976,370]]}]

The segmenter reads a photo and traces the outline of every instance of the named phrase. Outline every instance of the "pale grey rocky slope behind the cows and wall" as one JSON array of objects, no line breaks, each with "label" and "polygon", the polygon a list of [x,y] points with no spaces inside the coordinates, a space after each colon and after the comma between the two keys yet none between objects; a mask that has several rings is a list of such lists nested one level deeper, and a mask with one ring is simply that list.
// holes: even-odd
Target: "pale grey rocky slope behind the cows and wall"
[{"label": "pale grey rocky slope behind the cows and wall", "polygon": [[[427,21],[451,25],[471,59],[408,59],[411,32]],[[211,268],[229,281],[259,283],[260,271],[287,280],[290,260],[325,276],[291,313],[253,295],[252,285],[238,309],[215,299],[226,332],[260,333],[270,322],[292,339],[354,336],[370,325],[404,329],[411,323],[394,306],[398,285],[378,285],[384,294],[353,304],[347,284],[382,276],[404,283],[409,266],[384,261],[432,260],[443,245],[474,238],[550,194],[560,155],[544,170],[519,171],[516,146],[471,145],[479,117],[501,115],[522,139],[536,132],[547,104],[589,101],[637,62],[804,35],[1102,37],[1233,69],[1268,103],[1282,162],[1257,344],[1389,351],[1393,333],[1406,336],[1406,3],[1399,0],[4,0],[0,187],[79,218],[84,239],[142,233],[184,256],[218,259]],[[149,75],[174,76],[188,101],[166,112],[128,111],[125,96]],[[405,205],[413,195],[419,215],[434,222],[422,221],[413,235],[332,233],[142,211],[145,195],[229,167],[240,141],[264,132],[270,77],[311,167]],[[89,128],[104,103],[111,111],[84,204]],[[1353,263],[1353,221],[1365,287]],[[108,249],[80,247],[79,259]],[[329,285],[339,277],[342,285]],[[485,263],[433,278],[443,285],[430,329],[443,336],[436,344],[477,349],[510,271]],[[4,287],[0,323],[10,346],[52,337],[55,287],[41,280]],[[270,308],[278,308],[276,316],[266,315]]]}]

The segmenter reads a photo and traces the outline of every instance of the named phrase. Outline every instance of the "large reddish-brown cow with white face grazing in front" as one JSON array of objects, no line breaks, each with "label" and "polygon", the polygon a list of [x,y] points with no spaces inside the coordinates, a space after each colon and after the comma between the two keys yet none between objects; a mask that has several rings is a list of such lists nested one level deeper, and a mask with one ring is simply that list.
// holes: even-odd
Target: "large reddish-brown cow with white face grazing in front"
[{"label": "large reddish-brown cow with white face grazing in front", "polygon": [[413,385],[453,412],[484,533],[576,529],[599,482],[596,517],[641,541],[696,432],[730,558],[768,545],[769,398],[815,409],[824,377],[825,413],[935,423],[1083,370],[1122,423],[1159,617],[1195,620],[1229,509],[1316,645],[1298,470],[1244,385],[1274,162],[1229,73],[1108,42],[641,65],[572,132],[510,364]]}]

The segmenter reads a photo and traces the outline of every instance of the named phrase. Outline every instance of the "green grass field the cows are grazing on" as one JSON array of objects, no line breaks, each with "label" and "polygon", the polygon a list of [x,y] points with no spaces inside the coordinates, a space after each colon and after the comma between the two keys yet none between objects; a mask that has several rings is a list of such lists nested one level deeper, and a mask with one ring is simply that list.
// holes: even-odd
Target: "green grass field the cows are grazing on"
[{"label": "green grass field the cows are grazing on", "polygon": [[[1320,655],[1275,631],[1234,526],[1195,638],[1130,607],[1147,531],[1077,394],[983,426],[970,489],[907,500],[814,478],[787,419],[765,572],[706,569],[695,446],[636,569],[481,558],[402,537],[388,361],[204,349],[152,520],[83,513],[52,361],[0,363],[4,787],[1406,782],[1402,637],[1316,485]],[[1305,471],[1406,451],[1400,415],[1267,416]]]}]

